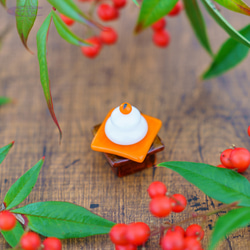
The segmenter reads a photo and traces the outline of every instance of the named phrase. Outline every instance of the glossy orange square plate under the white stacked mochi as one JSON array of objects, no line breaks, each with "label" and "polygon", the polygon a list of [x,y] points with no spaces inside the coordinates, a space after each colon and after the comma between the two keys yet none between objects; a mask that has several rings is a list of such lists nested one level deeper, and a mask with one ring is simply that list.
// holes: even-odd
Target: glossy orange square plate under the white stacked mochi
[{"label": "glossy orange square plate under the white stacked mochi", "polygon": [[95,137],[91,143],[91,148],[95,151],[114,154],[135,162],[143,162],[147,156],[147,153],[159,132],[162,122],[161,120],[142,114],[148,123],[147,135],[139,142],[132,145],[118,145],[108,139],[105,134],[105,124],[110,117],[113,109],[109,111],[100,128],[98,129]]}]

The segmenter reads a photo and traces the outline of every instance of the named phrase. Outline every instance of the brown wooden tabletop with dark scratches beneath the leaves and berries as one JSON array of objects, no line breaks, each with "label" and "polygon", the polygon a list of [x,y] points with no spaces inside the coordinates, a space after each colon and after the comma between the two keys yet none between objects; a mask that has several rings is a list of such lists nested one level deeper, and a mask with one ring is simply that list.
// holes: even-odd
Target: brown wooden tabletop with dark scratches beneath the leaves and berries
[{"label": "brown wooden tabletop with dark scratches beneath the leaves and berries", "polygon": [[[10,1],[8,6],[14,6]],[[48,64],[54,108],[63,139],[48,112],[39,78],[36,57],[36,32],[49,12],[45,0],[30,33],[32,56],[22,46],[14,16],[0,8],[0,31],[10,32],[0,51],[0,96],[15,104],[0,108],[0,146],[15,140],[15,145],[0,167],[0,196],[43,155],[45,163],[38,182],[23,204],[39,201],[69,201],[117,223],[143,221],[151,227],[162,220],[150,215],[147,187],[163,181],[171,193],[182,193],[188,207],[171,214],[180,221],[194,211],[202,213],[218,205],[177,173],[153,168],[117,178],[101,153],[90,148],[93,125],[102,122],[107,112],[127,101],[143,113],[163,121],[159,132],[165,143],[157,162],[170,160],[219,164],[222,150],[232,143],[250,149],[247,127],[250,124],[249,58],[239,67],[216,79],[199,81],[210,63],[200,47],[183,12],[168,18],[171,44],[159,49],[152,43],[152,31],[133,35],[138,9],[131,3],[113,27],[118,30],[116,45],[105,47],[94,60],[82,56],[80,49],[67,44],[52,25],[48,41]],[[223,10],[237,29],[247,17]],[[227,35],[206,15],[214,51]],[[73,27],[84,35],[81,26]],[[250,169],[244,174],[250,179]],[[96,204],[96,205],[93,205]],[[217,215],[205,226],[206,248]],[[218,249],[250,249],[250,229],[229,236]],[[146,249],[159,249],[159,237],[152,237]],[[0,248],[8,245],[0,238]],[[114,249],[107,235],[63,241],[63,249]]]}]

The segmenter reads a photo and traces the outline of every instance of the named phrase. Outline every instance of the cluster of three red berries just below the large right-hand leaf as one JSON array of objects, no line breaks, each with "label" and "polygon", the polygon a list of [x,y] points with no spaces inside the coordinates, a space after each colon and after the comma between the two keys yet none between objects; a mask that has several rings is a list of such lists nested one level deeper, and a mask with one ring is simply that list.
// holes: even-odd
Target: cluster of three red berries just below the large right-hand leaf
[{"label": "cluster of three red berries just below the large right-hand leaf", "polygon": [[167,187],[160,181],[152,182],[147,191],[152,199],[149,211],[156,217],[166,217],[171,212],[180,213],[187,205],[187,200],[182,194],[167,196]]}]

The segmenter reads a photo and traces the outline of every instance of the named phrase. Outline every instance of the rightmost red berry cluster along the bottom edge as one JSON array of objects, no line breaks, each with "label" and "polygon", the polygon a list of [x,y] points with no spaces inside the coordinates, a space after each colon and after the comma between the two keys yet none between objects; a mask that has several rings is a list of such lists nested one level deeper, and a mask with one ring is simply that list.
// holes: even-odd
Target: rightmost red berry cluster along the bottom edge
[{"label": "rightmost red berry cluster along the bottom edge", "polygon": [[191,224],[186,231],[181,226],[172,226],[161,239],[163,250],[202,250],[204,230],[198,224]]}]

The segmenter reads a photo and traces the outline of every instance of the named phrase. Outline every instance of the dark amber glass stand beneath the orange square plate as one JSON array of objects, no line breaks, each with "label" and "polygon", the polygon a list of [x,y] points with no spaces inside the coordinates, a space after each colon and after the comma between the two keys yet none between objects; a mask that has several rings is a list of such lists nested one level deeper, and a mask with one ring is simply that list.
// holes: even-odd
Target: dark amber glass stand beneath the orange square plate
[{"label": "dark amber glass stand beneath the orange square plate", "polygon": [[[92,133],[95,136],[101,124],[98,124],[92,128]],[[112,171],[118,176],[123,177],[129,174],[136,173],[145,168],[150,168],[156,164],[156,153],[164,149],[160,137],[157,135],[147,153],[145,160],[142,163],[138,163],[117,155],[103,153],[106,157]]]}]

